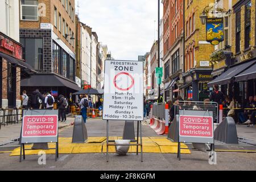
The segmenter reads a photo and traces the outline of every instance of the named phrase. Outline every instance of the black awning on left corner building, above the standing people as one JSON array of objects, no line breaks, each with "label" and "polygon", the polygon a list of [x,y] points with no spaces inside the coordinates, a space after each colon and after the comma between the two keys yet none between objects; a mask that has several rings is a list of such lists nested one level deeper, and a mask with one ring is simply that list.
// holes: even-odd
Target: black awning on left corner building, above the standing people
[{"label": "black awning on left corner building, above the standing people", "polygon": [[65,86],[73,90],[81,90],[75,82],[65,80],[57,75],[32,75],[30,78],[21,81],[21,86]]}]

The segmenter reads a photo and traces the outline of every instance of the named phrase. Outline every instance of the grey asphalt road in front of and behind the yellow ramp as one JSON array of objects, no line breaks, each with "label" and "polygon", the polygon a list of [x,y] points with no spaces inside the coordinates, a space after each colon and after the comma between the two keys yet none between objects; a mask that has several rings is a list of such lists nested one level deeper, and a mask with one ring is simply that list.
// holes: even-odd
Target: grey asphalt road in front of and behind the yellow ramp
[{"label": "grey asphalt road in front of and behind the yellow ramp", "polygon": [[[110,136],[122,136],[123,122],[110,121]],[[86,124],[89,137],[106,136],[106,123],[100,119],[90,119]],[[136,126],[135,126],[136,128]],[[72,137],[73,127],[62,129],[60,137]],[[150,127],[143,125],[143,137],[155,137]],[[191,155],[181,155],[181,161],[176,154],[144,154],[144,162],[140,155],[129,154],[118,156],[110,154],[106,163],[105,154],[63,154],[55,162],[55,155],[46,156],[46,165],[38,164],[37,155],[27,156],[19,163],[19,157],[0,154],[0,170],[256,170],[256,154],[217,152],[217,164],[208,163],[209,155],[201,151],[192,151]]]}]

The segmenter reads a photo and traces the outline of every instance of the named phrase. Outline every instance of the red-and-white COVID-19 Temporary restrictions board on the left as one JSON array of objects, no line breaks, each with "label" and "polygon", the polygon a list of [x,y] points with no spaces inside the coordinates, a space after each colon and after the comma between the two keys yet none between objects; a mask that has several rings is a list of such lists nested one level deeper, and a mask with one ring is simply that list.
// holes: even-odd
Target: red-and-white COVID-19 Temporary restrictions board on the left
[{"label": "red-and-white COVID-19 Temporary restrictions board on the left", "polygon": [[57,142],[57,110],[24,110],[22,143]]}]

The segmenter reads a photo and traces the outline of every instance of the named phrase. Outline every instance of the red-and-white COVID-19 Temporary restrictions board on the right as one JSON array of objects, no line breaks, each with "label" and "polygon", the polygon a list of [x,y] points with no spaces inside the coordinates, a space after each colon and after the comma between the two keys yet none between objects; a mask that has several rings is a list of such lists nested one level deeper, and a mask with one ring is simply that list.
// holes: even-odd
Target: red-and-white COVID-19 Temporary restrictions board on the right
[{"label": "red-and-white COVID-19 Temporary restrictions board on the right", "polygon": [[213,130],[212,111],[179,111],[180,142],[213,143]]}]

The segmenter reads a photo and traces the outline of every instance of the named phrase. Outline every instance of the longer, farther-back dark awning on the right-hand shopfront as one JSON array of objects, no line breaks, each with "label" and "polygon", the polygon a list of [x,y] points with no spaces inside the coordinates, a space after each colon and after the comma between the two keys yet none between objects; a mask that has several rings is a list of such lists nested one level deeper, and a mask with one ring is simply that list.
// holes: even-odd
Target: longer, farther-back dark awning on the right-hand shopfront
[{"label": "longer, farther-back dark awning on the right-hand shopfront", "polygon": [[250,61],[248,63],[243,63],[243,64],[240,64],[240,65],[236,65],[232,68],[229,68],[228,71],[222,73],[219,77],[217,77],[213,81],[209,82],[208,86],[213,86],[214,84],[218,84],[218,85],[229,84],[234,76],[236,76],[239,73],[245,71],[246,68],[250,67],[255,62],[256,62],[256,60]]}]

